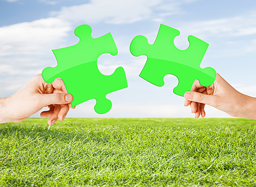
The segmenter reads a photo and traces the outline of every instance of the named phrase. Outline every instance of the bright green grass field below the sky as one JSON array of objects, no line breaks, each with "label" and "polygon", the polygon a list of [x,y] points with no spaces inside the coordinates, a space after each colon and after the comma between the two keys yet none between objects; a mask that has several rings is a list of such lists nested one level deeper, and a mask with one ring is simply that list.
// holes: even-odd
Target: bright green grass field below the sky
[{"label": "bright green grass field below the sky", "polygon": [[0,125],[0,186],[256,186],[256,121],[47,119]]}]

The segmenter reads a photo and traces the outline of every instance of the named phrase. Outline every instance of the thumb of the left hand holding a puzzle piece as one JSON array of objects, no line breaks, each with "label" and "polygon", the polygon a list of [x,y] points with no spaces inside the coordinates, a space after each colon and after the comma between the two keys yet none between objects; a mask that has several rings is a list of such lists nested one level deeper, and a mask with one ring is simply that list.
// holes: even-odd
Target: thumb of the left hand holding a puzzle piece
[{"label": "thumb of the left hand holding a puzzle piece", "polygon": [[67,104],[73,100],[73,96],[67,93],[41,94],[40,104],[47,106],[50,104]]}]

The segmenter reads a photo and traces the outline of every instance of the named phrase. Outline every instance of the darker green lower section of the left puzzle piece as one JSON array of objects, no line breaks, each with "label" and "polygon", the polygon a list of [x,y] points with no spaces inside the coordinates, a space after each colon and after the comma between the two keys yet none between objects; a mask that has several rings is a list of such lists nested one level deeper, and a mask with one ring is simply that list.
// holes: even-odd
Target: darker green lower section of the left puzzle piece
[{"label": "darker green lower section of the left puzzle piece", "polygon": [[[118,67],[112,75],[103,75],[100,73],[97,64],[90,62],[75,66],[72,68],[72,71],[76,72],[72,78],[65,76],[66,73],[70,72],[69,70],[63,72],[63,75],[61,75],[63,82],[67,85],[68,93],[74,96],[71,103],[72,106],[87,100],[96,99],[94,110],[98,114],[107,113],[112,108],[112,102],[106,99],[107,94],[127,87],[126,77],[122,67]],[[82,83],[79,83],[82,86],[77,85],[75,80],[83,80]],[[97,85],[96,88],[95,85]],[[93,87],[94,89],[88,90],[88,88]]]}]

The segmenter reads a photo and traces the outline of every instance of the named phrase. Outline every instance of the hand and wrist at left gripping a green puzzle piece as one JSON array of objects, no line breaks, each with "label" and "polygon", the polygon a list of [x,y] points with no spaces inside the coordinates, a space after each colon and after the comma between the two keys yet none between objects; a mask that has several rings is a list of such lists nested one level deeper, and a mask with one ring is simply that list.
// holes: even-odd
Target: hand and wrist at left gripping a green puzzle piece
[{"label": "hand and wrist at left gripping a green puzzle piece", "polygon": [[65,119],[69,108],[72,108],[70,102],[73,96],[67,93],[60,78],[56,78],[53,83],[46,83],[42,75],[38,74],[16,93],[1,99],[0,123],[23,121],[48,106],[49,111],[41,112],[40,116],[49,117],[48,124],[52,125],[57,119]]}]

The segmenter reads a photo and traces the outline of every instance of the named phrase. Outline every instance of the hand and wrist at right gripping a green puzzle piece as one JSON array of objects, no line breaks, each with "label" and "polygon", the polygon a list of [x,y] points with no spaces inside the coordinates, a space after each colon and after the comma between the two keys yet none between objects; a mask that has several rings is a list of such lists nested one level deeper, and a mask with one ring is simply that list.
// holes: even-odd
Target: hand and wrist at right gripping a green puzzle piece
[{"label": "hand and wrist at right gripping a green puzzle piece", "polygon": [[229,85],[218,73],[215,82],[203,87],[196,80],[191,91],[184,94],[185,104],[190,105],[195,118],[205,117],[204,106],[214,106],[230,116],[256,119],[255,98],[244,95]]}]

